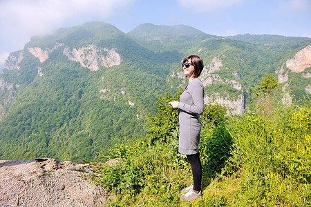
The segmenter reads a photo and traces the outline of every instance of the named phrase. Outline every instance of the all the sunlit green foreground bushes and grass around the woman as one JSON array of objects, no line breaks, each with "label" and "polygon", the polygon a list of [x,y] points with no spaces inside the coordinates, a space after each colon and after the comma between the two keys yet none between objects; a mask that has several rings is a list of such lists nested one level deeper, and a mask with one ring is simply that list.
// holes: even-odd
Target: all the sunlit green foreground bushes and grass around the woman
[{"label": "all the sunlit green foreground bushes and grass around the woman", "polygon": [[100,155],[100,161],[116,162],[93,164],[92,178],[113,194],[110,206],[310,206],[310,100],[288,106],[272,93],[263,91],[260,104],[230,119],[221,106],[205,107],[200,117],[203,196],[196,201],[179,201],[180,189],[192,177],[177,152],[177,125],[171,121],[176,110],[165,107],[176,98],[170,95],[158,102],[149,139]]}]

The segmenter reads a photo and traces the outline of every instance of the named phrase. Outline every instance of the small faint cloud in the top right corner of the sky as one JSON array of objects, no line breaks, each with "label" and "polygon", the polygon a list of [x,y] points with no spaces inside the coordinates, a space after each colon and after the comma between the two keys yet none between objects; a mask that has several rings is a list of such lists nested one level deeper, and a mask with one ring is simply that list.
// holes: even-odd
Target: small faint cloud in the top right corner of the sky
[{"label": "small faint cloud in the top right corner of the sky", "polygon": [[310,0],[280,0],[279,13],[288,12],[311,12],[311,1]]}]

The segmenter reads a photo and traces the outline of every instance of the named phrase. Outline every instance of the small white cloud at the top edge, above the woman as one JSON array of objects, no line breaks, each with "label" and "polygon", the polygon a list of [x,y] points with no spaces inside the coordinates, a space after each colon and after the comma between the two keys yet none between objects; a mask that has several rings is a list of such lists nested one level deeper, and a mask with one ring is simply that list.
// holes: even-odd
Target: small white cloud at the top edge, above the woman
[{"label": "small white cloud at the top edge, above the woman", "polygon": [[193,12],[209,12],[225,10],[231,6],[243,3],[245,0],[178,0],[180,6],[191,8]]}]

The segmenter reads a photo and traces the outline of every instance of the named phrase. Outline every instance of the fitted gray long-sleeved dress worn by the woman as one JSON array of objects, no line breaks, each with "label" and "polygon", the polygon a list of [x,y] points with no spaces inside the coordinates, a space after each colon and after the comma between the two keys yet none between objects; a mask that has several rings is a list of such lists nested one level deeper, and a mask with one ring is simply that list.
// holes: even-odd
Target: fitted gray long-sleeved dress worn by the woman
[{"label": "fitted gray long-sleeved dress worn by the woman", "polygon": [[180,95],[179,113],[179,147],[185,155],[198,152],[200,141],[200,114],[204,111],[204,86],[200,79],[194,79]]}]

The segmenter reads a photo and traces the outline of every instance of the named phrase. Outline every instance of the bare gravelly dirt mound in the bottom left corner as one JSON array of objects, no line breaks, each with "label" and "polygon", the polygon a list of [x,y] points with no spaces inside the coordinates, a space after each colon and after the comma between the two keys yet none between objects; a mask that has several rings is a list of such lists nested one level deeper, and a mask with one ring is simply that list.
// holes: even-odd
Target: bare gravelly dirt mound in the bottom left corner
[{"label": "bare gravelly dirt mound in the bottom left corner", "polygon": [[81,177],[88,170],[50,158],[0,160],[0,206],[105,206],[104,188]]}]

